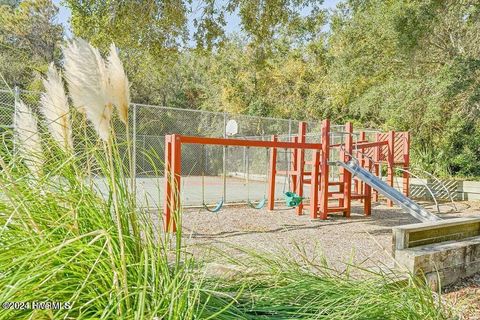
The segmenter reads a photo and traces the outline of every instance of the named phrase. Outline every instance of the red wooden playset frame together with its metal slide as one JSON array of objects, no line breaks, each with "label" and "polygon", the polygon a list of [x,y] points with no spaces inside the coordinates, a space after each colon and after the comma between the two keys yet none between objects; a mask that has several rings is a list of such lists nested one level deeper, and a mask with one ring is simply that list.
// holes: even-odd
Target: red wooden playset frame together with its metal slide
[{"label": "red wooden playset frame together with its metal slide", "polygon": [[[331,143],[333,135],[344,138],[339,143]],[[341,213],[350,217],[352,200],[363,202],[364,214],[371,214],[371,203],[378,201],[379,193],[387,198],[387,205],[397,203],[411,215],[421,221],[434,221],[439,218],[429,213],[408,198],[410,136],[408,132],[376,133],[374,139],[366,139],[365,132],[355,134],[352,123],[347,123],[341,131],[331,131],[330,121],[322,121],[321,133],[307,142],[307,124],[299,123],[298,135],[291,141],[279,141],[272,135],[270,141],[234,138],[209,138],[185,135],[165,136],[165,186],[164,186],[164,223],[166,230],[174,231],[172,213],[180,208],[180,186],[182,166],[182,146],[216,145],[223,147],[266,148],[269,150],[268,191],[266,202],[268,210],[275,208],[276,178],[283,175],[291,183],[291,194],[304,197],[304,187],[310,185],[309,212],[312,219],[327,219],[329,214]],[[291,160],[285,170],[277,170],[279,150],[289,150]],[[338,155],[335,159],[334,154]],[[310,156],[310,160],[307,157]],[[381,165],[387,168],[386,182],[379,178]],[[394,171],[403,170],[402,192],[394,188]],[[330,173],[338,170],[338,178],[331,179]],[[374,190],[372,190],[372,188]],[[335,203],[332,203],[335,202]],[[263,205],[262,205],[263,206]],[[297,215],[302,215],[304,202],[295,205]],[[221,204],[214,210],[218,211]]]}]

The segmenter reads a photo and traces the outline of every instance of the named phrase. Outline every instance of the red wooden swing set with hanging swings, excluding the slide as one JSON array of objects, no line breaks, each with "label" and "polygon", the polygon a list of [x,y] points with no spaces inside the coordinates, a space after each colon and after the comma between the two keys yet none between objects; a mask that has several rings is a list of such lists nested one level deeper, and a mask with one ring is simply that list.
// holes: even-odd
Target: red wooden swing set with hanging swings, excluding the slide
[{"label": "red wooden swing set with hanging swings, excluding the slide", "polygon": [[[295,208],[297,215],[303,214],[305,205],[304,186],[310,185],[309,211],[312,219],[327,219],[331,213],[343,213],[345,217],[350,216],[351,201],[359,200],[364,204],[365,215],[371,213],[371,201],[378,201],[378,193],[371,189],[370,185],[361,181],[355,176],[355,173],[339,166],[338,162],[345,164],[350,160],[358,162],[362,168],[379,176],[381,174],[380,165],[387,165],[387,184],[393,187],[394,167],[403,169],[403,193],[408,196],[409,174],[406,170],[409,166],[409,141],[408,132],[376,133],[372,141],[365,139],[365,133],[353,133],[351,123],[345,124],[340,132],[333,132],[330,129],[328,119],[322,121],[321,135],[317,142],[306,142],[307,124],[299,124],[298,135],[291,138],[290,141],[278,141],[278,137],[273,135],[270,140],[248,140],[237,138],[211,138],[184,135],[166,135],[165,136],[165,187],[163,214],[165,230],[175,231],[175,221],[172,214],[179,212],[180,204],[180,186],[181,186],[181,163],[182,146],[201,145],[203,153],[201,155],[202,163],[202,207],[209,212],[219,212],[225,205],[225,187],[226,187],[226,161],[223,166],[223,197],[217,201],[214,206],[208,206],[205,201],[205,177],[207,174],[208,154],[206,146],[222,146],[224,154],[228,147],[244,147],[246,150],[245,161],[245,179],[247,185],[247,205],[253,209],[263,209],[272,211],[275,207],[275,188],[277,175],[283,176],[282,193],[284,194],[285,204],[289,208]],[[331,137],[334,135],[344,135],[340,143],[331,143]],[[353,136],[359,139],[353,140]],[[265,183],[265,193],[260,200],[251,198],[250,181],[250,149],[265,148],[267,179]],[[287,167],[285,170],[277,170],[278,151],[285,151],[285,161]],[[331,151],[337,150],[339,160],[332,161]],[[312,150],[311,160],[306,160],[305,152]],[[308,168],[308,170],[306,170]],[[332,180],[330,172],[338,170],[338,178]],[[287,188],[288,186],[288,188]],[[352,188],[353,187],[353,188]],[[287,189],[286,189],[287,188]],[[331,203],[336,201],[336,204]],[[387,205],[393,206],[393,202],[387,199]]]}]

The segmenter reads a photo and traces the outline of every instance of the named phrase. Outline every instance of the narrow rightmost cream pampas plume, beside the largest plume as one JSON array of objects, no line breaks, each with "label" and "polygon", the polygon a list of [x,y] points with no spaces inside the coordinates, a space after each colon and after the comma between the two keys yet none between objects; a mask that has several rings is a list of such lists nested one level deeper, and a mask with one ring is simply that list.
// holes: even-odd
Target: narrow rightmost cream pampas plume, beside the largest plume
[{"label": "narrow rightmost cream pampas plume, beside the largest plume", "polygon": [[128,78],[123,69],[123,64],[118,57],[117,48],[113,43],[110,45],[107,69],[112,90],[112,102],[117,107],[120,120],[122,120],[125,125],[128,125],[128,106],[130,104]]}]

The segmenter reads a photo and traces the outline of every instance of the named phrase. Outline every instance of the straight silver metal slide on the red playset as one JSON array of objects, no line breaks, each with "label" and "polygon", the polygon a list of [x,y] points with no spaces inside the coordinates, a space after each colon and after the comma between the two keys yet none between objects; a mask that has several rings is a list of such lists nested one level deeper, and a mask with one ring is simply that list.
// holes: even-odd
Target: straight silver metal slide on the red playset
[{"label": "straight silver metal slide on the red playset", "polygon": [[383,196],[395,202],[397,205],[407,211],[411,216],[417,218],[418,220],[424,222],[442,220],[435,214],[425,210],[425,208],[420,206],[415,201],[404,196],[397,189],[389,186],[388,184],[380,180],[377,176],[370,173],[368,170],[359,166],[356,159],[350,160],[348,162],[336,161],[335,164],[350,171],[354,176],[357,176],[360,180],[377,190]]}]

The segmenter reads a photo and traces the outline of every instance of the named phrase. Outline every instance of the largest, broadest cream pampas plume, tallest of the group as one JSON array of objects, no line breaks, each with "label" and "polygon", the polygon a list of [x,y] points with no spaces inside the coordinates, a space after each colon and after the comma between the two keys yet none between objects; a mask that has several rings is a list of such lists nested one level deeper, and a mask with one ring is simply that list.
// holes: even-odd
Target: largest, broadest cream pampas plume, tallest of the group
[{"label": "largest, broadest cream pampas plume, tallest of the group", "polygon": [[70,97],[84,111],[100,138],[108,140],[112,104],[105,62],[96,48],[83,39],[63,48],[65,76]]}]

